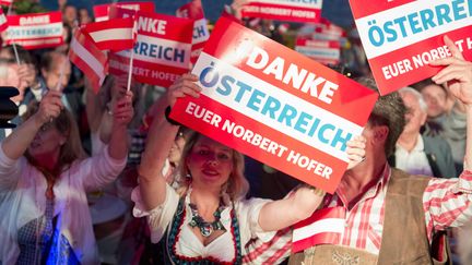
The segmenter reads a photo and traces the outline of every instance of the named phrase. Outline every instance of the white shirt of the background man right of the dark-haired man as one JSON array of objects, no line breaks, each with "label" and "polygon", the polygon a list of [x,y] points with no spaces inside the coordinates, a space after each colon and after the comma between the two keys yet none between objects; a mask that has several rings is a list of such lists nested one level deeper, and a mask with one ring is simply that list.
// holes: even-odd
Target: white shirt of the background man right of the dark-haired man
[{"label": "white shirt of the background man right of the dark-haired man", "polygon": [[399,144],[396,148],[396,168],[399,168],[411,174],[433,176],[433,170],[424,152],[423,137],[418,135],[416,145],[411,152],[408,152]]}]

